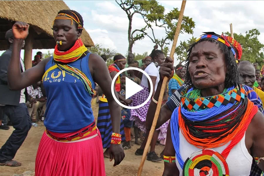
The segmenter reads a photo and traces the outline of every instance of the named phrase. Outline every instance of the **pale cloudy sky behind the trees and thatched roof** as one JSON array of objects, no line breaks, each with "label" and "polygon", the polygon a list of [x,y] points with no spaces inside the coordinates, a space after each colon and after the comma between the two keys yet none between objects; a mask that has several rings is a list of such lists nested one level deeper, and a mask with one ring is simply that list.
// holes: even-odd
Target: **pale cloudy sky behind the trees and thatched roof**
[{"label": "pale cloudy sky behind the trees and thatched roof", "polygon": [[[165,7],[165,12],[173,8],[180,10],[182,1],[158,1]],[[94,43],[99,43],[105,48],[111,48],[118,53],[126,55],[128,50],[128,18],[115,1],[65,1],[70,9],[78,11],[84,20],[84,28],[91,36]],[[245,34],[253,28],[260,31],[259,40],[264,43],[264,1],[190,1],[186,2],[184,15],[195,22],[194,37],[199,37],[202,32],[214,31],[221,34],[230,31],[229,24],[233,24],[234,33]],[[144,26],[140,16],[134,16],[132,30]],[[165,31],[155,27],[157,38],[165,36]],[[192,35],[180,34],[180,41],[188,40]],[[172,43],[171,43],[172,45]],[[169,48],[171,48],[171,45]],[[151,53],[154,44],[145,37],[136,41],[133,53]],[[33,50],[33,57],[39,50]],[[47,50],[40,50],[45,53]],[[50,50],[53,52],[53,50]],[[0,54],[3,53],[0,51]],[[23,50],[21,51],[23,56]],[[22,57],[23,58],[23,57]],[[174,56],[175,64],[177,56]]]}]

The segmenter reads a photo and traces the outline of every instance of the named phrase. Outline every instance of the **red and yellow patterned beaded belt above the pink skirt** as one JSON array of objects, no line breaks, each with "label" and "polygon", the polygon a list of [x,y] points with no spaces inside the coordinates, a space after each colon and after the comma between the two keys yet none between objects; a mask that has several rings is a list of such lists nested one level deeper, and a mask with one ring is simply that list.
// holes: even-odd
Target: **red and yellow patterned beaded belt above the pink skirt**
[{"label": "red and yellow patterned beaded belt above the pink skirt", "polygon": [[89,135],[90,133],[92,133],[94,130],[96,130],[97,126],[95,124],[95,122],[93,122],[91,125],[89,125],[87,128],[85,128],[84,130],[72,135],[72,136],[69,136],[69,137],[66,137],[66,138],[57,138],[55,136],[53,136],[49,131],[48,129],[45,130],[46,134],[48,137],[54,139],[55,141],[60,141],[60,142],[69,142],[69,141],[76,141],[76,140],[79,140],[81,138],[84,138],[85,136]]}]

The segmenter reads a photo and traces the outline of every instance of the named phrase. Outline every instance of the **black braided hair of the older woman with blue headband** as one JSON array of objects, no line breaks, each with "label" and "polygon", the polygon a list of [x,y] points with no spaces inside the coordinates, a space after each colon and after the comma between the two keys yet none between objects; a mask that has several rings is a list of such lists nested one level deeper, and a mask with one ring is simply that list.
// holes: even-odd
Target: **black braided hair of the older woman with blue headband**
[{"label": "black braided hair of the older woman with blue headband", "polygon": [[[221,37],[220,35],[214,34],[217,37]],[[189,50],[187,51],[187,64],[185,64],[186,67],[186,77],[185,77],[185,82],[192,84],[191,76],[189,74],[189,60],[190,60],[190,54],[192,52],[192,48],[197,45],[197,43],[203,42],[203,41],[208,41],[211,43],[216,43],[220,50],[224,53],[225,55],[225,61],[226,61],[226,79],[225,79],[225,87],[231,87],[231,86],[236,86],[236,84],[241,84],[242,80],[239,74],[238,70],[238,65],[236,63],[235,56],[233,55],[231,49],[225,45],[222,42],[219,42],[218,40],[215,40],[214,38],[202,38],[198,40],[197,42],[193,43],[190,45]],[[236,48],[234,49],[236,53],[237,50]]]}]

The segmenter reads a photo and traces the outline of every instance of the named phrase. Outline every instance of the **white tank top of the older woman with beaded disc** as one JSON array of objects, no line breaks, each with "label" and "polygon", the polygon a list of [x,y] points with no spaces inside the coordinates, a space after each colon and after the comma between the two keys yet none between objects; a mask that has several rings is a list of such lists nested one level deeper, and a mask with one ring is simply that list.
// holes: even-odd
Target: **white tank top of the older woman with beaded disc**
[{"label": "white tank top of the older woman with beaded disc", "polygon": [[[185,137],[180,132],[180,154],[182,156],[183,162],[192,155],[192,153],[201,150],[200,148],[191,145],[188,141],[186,141]],[[230,142],[229,142],[230,143]],[[222,153],[222,151],[229,145],[223,145],[218,148],[211,148],[218,153]],[[229,155],[226,158],[226,163],[229,168],[230,176],[248,176],[251,171],[252,164],[252,156],[248,153],[245,144],[245,135],[241,139],[241,141],[232,148]],[[182,176],[182,168],[180,167],[177,157],[176,157],[176,165],[180,171],[180,176]]]}]

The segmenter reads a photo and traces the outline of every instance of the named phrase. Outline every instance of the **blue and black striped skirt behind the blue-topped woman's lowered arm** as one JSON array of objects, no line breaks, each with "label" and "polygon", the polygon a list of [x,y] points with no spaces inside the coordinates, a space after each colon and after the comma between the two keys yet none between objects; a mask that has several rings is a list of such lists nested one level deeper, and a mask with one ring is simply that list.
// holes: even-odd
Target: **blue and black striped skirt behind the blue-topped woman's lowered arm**
[{"label": "blue and black striped skirt behind the blue-topped woman's lowered arm", "polygon": [[[121,117],[120,117],[121,119]],[[112,121],[110,117],[109,107],[107,102],[99,101],[97,127],[100,131],[103,148],[110,148],[111,136],[113,133]],[[125,141],[124,124],[121,119],[120,134],[122,135],[122,142]]]}]

